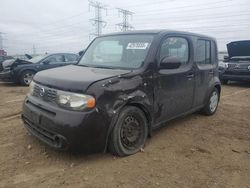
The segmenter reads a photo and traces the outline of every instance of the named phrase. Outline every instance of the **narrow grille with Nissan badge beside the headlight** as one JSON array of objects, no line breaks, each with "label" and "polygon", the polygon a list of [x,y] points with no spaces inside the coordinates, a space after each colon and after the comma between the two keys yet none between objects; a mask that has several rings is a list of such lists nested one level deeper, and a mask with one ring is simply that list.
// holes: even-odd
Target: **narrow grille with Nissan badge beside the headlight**
[{"label": "narrow grille with Nissan badge beside the headlight", "polygon": [[35,84],[33,96],[41,98],[44,101],[54,102],[56,100],[57,91],[55,89]]}]

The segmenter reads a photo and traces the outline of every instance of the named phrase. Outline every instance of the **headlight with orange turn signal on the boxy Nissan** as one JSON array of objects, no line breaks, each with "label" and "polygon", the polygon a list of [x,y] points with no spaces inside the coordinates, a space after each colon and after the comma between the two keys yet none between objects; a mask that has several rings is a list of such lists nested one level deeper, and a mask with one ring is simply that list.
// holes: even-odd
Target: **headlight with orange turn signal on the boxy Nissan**
[{"label": "headlight with orange turn signal on the boxy Nissan", "polygon": [[95,107],[95,98],[89,95],[57,91],[57,104],[63,108],[83,110]]}]

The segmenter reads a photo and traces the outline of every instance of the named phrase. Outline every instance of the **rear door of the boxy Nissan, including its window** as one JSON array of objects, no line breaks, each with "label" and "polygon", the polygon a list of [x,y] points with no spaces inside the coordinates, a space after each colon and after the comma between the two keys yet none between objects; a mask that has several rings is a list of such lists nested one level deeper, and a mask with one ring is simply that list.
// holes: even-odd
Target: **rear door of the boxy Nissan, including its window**
[{"label": "rear door of the boxy Nissan, including its window", "polygon": [[206,102],[210,85],[213,84],[216,69],[217,49],[215,42],[208,39],[198,39],[195,50],[195,100],[194,106],[202,106]]}]

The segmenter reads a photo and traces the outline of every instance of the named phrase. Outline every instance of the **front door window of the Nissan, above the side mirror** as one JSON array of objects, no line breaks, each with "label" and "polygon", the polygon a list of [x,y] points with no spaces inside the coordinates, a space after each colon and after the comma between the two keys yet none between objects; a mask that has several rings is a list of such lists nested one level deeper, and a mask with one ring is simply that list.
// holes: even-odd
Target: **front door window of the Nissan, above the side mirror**
[{"label": "front door window of the Nissan, above the side mirror", "polygon": [[187,39],[183,37],[168,37],[161,46],[160,60],[163,58],[175,59],[182,65],[188,63],[189,46]]}]

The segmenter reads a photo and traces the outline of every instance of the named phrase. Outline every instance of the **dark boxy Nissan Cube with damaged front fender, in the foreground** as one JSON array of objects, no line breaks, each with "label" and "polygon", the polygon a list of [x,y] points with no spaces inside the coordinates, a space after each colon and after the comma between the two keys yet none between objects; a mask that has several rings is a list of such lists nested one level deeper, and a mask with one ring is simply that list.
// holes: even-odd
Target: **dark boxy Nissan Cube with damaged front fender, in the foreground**
[{"label": "dark boxy Nissan Cube with damaged front fender, in the foreground", "polygon": [[217,45],[204,35],[133,31],[97,37],[77,65],[35,75],[28,131],[56,149],[131,155],[153,129],[220,98]]}]

